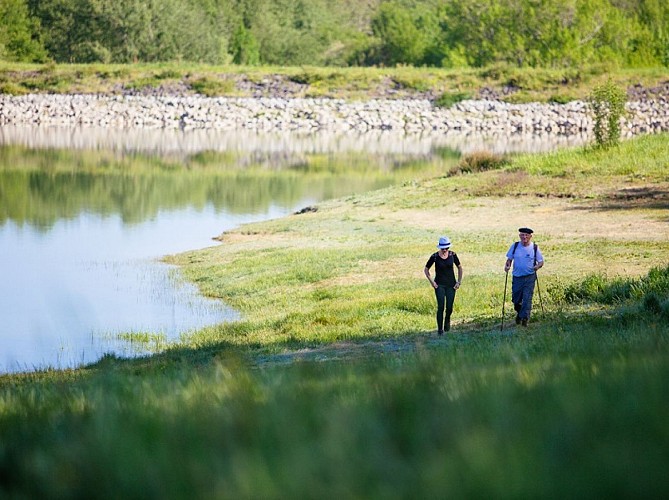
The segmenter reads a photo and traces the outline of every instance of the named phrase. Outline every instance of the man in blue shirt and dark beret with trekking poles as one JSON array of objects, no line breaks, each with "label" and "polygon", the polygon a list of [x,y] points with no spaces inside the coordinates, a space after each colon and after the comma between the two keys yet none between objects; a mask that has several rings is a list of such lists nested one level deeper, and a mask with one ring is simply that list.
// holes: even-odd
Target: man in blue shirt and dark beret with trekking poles
[{"label": "man in blue shirt and dark beret with trekking poles", "polygon": [[[513,262],[513,281],[511,282],[511,300],[516,310],[516,324],[527,326],[532,311],[534,284],[537,281],[537,270],[544,265],[544,257],[537,244],[531,245],[532,231],[529,227],[518,229],[520,241],[511,245],[506,252],[504,272],[508,273]],[[520,243],[520,244],[518,244]]]}]

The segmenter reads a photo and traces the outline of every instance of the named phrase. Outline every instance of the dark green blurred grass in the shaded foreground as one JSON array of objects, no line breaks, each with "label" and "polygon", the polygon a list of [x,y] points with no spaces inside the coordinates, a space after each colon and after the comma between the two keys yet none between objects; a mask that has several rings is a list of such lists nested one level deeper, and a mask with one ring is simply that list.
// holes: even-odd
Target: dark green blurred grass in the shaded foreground
[{"label": "dark green blurred grass in the shaded foreground", "polygon": [[344,362],[5,378],[0,496],[661,498],[668,347],[637,316]]}]

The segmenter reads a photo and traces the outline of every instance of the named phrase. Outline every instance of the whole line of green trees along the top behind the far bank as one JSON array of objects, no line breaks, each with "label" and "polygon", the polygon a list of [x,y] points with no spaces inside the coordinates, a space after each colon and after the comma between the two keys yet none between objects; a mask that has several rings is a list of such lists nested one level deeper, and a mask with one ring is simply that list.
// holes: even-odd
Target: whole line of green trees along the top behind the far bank
[{"label": "whole line of green trees along the top behind the far bank", "polygon": [[0,60],[669,66],[666,0],[0,0]]}]

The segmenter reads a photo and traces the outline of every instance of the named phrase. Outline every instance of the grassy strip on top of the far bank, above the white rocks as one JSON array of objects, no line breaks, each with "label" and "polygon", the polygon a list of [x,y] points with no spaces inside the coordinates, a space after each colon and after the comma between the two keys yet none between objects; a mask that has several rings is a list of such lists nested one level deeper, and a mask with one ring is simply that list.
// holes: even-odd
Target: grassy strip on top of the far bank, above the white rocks
[{"label": "grassy strip on top of the far bank, above the white rocks", "polygon": [[458,100],[498,97],[509,102],[584,99],[611,79],[621,88],[653,88],[666,68],[618,69],[607,65],[563,69],[244,67],[196,64],[28,65],[0,63],[0,93],[197,93],[206,96],[427,97],[448,106]]}]

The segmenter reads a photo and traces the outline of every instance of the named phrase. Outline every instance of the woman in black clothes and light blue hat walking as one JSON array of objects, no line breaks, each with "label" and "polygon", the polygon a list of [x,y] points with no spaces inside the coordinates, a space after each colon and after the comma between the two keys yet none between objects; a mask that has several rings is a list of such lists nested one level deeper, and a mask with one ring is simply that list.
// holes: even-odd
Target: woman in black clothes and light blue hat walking
[{"label": "woman in black clothes and light blue hat walking", "polygon": [[[437,297],[437,333],[444,334],[444,330],[451,329],[451,314],[453,313],[453,302],[455,292],[462,283],[462,265],[455,252],[451,252],[451,240],[447,236],[439,238],[438,252],[430,255],[425,264],[425,277],[434,288]],[[435,277],[432,279],[430,268],[434,265]],[[453,266],[458,268],[458,279],[455,280]],[[444,311],[446,317],[444,318]]]}]

